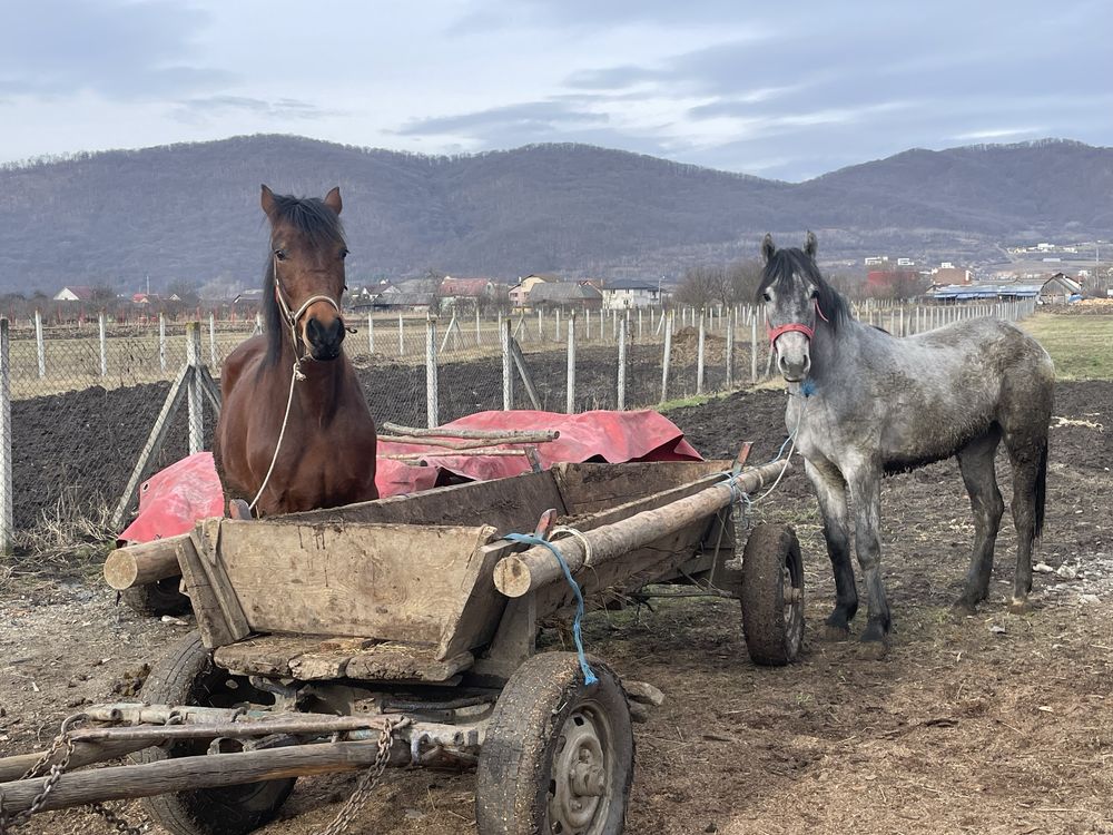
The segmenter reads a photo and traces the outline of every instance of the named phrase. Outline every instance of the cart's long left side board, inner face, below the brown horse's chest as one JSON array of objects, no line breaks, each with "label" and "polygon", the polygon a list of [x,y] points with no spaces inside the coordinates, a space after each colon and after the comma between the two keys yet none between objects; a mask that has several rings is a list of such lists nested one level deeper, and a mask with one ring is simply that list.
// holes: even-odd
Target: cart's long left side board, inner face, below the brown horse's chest
[{"label": "cart's long left side board, inner face, below the brown horse's chest", "polygon": [[[494,481],[453,484],[421,493],[394,495],[343,508],[312,510],[273,517],[284,524],[346,524],[374,522],[393,524],[494,525],[499,533],[521,530],[548,509],[565,513],[567,508],[551,471],[525,473]],[[531,521],[532,520],[532,521]]]}]

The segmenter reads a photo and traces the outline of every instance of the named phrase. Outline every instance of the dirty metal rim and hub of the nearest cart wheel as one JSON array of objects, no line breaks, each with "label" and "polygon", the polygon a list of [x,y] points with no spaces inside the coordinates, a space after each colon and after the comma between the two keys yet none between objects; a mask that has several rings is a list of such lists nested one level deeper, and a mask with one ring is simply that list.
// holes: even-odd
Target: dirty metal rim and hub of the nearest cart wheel
[{"label": "dirty metal rim and hub of the nearest cart wheel", "polygon": [[600,715],[579,709],[569,716],[553,758],[549,825],[558,835],[589,835],[605,817],[607,729]]}]

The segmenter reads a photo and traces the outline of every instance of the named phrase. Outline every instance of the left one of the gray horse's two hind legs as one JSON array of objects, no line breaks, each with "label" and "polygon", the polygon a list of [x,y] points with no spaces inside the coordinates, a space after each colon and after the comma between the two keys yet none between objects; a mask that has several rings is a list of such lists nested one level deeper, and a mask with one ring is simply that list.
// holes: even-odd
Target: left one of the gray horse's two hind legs
[{"label": "left one of the gray horse's two hind legs", "polygon": [[954,608],[967,615],[973,615],[974,607],[989,593],[993,548],[1001,530],[1001,517],[1005,512],[993,461],[999,441],[1001,432],[995,426],[958,451],[958,466],[971,497],[971,510],[974,511],[974,552],[966,574],[966,588]]}]

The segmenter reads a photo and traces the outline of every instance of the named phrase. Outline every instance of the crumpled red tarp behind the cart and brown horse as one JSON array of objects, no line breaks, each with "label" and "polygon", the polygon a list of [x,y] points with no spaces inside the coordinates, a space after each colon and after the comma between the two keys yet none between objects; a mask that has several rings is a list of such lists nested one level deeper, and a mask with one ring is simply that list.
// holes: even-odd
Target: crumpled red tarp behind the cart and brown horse
[{"label": "crumpled red tarp behind the cart and brown horse", "polygon": [[[700,454],[669,419],[652,410],[637,412],[477,412],[444,428],[483,430],[558,430],[560,438],[538,444],[541,465],[604,461],[699,461]],[[506,449],[514,449],[509,446]],[[520,446],[518,446],[520,449]],[[383,455],[421,453],[427,466],[387,461]],[[429,490],[442,472],[472,481],[529,472],[524,455],[452,455],[444,448],[381,442],[375,483],[383,498]],[[193,529],[198,519],[224,515],[220,481],[213,453],[199,452],[168,466],[144,483],[139,515],[120,539],[149,542]]]}]

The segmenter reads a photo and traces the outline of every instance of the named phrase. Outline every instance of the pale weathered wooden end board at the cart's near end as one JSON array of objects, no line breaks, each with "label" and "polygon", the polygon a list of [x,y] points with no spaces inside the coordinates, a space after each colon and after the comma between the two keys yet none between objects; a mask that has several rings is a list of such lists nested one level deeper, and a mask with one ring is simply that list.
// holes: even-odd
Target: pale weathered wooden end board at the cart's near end
[{"label": "pale weathered wooden end board at the cart's near end", "polygon": [[[482,527],[223,520],[216,558],[252,630],[436,646],[477,581]],[[487,578],[490,582],[490,578]]]}]

